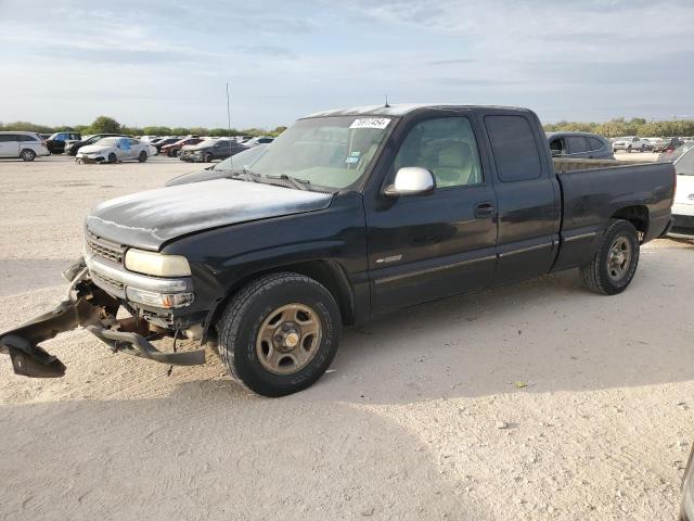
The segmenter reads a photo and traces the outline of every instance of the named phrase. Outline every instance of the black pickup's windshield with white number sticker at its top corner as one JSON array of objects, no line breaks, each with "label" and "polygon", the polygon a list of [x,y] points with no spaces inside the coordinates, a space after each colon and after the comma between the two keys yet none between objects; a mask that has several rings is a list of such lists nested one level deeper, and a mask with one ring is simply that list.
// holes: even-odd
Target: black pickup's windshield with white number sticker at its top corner
[{"label": "black pickup's windshield with white number sticker at its top corner", "polygon": [[350,187],[367,171],[395,126],[391,122],[358,116],[299,119],[253,164],[253,171],[334,189]]}]

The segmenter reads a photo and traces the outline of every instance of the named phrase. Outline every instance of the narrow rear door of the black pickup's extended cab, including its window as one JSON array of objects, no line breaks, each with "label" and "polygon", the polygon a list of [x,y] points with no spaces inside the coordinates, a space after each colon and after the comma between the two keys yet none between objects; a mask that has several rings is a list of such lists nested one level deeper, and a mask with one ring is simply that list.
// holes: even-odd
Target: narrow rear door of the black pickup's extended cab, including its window
[{"label": "narrow rear door of the black pickup's extended cab, including its window", "polygon": [[547,274],[558,250],[561,192],[540,122],[529,111],[483,114],[499,215],[493,284]]}]

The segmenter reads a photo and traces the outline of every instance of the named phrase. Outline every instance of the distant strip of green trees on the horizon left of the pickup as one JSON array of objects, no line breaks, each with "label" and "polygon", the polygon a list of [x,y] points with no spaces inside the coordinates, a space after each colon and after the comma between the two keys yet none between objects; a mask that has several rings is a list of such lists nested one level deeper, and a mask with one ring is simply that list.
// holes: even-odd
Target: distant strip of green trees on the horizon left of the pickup
[{"label": "distant strip of green trees on the horizon left of the pickup", "polygon": [[[265,128],[232,128],[232,136],[279,136],[286,127],[277,127],[272,130]],[[0,130],[26,130],[29,132],[53,134],[62,131],[76,131],[82,135],[89,134],[127,134],[129,136],[229,136],[228,128],[205,128],[205,127],[164,127],[164,126],[146,126],[146,127],[128,127],[120,125],[116,119],[108,116],[99,116],[91,125],[60,125],[51,127],[48,125],[38,125],[30,122],[12,122],[0,123]]]}]

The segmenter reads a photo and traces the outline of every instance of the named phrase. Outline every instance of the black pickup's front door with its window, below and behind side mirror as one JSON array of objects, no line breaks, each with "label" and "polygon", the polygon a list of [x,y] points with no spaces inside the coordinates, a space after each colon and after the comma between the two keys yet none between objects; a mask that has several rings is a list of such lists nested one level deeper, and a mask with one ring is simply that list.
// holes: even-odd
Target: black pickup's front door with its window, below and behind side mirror
[{"label": "black pickup's front door with its window, below and behind side mirror", "polygon": [[[394,132],[378,164],[380,187],[364,198],[372,315],[491,283],[496,196],[478,132],[471,114],[441,110],[412,116]],[[432,171],[436,189],[385,196],[383,188],[407,166]]]}]

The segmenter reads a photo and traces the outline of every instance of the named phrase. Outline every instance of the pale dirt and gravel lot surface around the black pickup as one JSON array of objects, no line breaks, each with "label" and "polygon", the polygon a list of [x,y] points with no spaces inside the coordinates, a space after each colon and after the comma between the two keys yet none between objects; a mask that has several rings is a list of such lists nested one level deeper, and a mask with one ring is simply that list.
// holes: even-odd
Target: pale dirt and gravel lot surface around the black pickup
[{"label": "pale dirt and gravel lot surface around the black pickup", "polygon": [[[89,207],[191,169],[0,161],[0,330],[61,298]],[[673,519],[692,269],[694,245],[660,240],[621,295],[568,271],[402,312],[346,330],[331,372],[282,399],[211,353],[167,377],[66,333],[47,343],[63,379],[0,357],[0,519]]]}]

